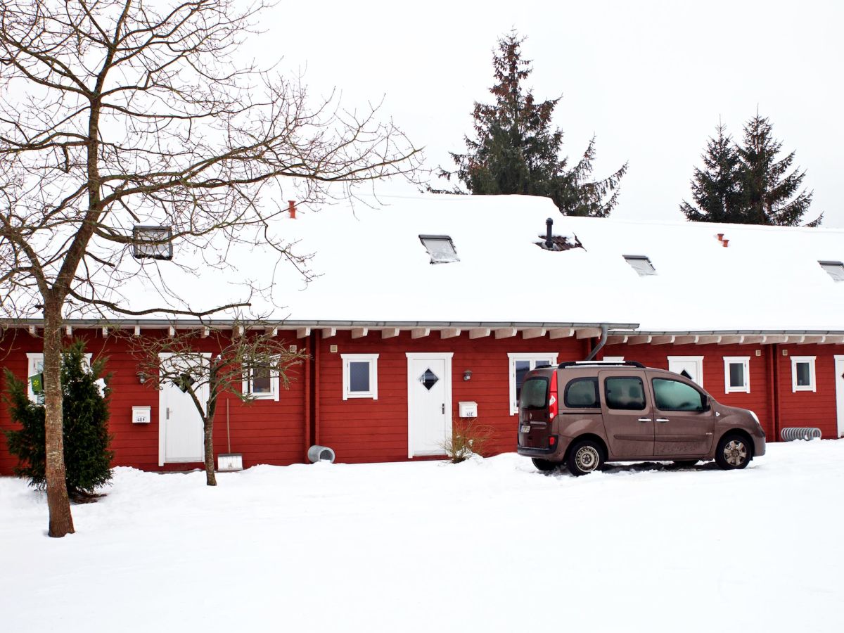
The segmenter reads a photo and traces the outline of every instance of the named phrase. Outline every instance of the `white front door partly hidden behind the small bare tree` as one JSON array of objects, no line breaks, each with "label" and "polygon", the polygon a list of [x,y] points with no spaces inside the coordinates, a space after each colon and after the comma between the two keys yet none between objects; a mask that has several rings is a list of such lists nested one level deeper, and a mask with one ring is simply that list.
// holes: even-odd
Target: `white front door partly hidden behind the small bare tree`
[{"label": "white front door partly hidden behind the small bare tree", "polygon": [[[159,354],[160,363],[172,364],[173,354]],[[203,419],[189,393],[172,382],[162,381],[159,392],[159,466],[165,463],[202,462],[205,458]],[[198,389],[197,398],[208,400],[208,385]]]}]

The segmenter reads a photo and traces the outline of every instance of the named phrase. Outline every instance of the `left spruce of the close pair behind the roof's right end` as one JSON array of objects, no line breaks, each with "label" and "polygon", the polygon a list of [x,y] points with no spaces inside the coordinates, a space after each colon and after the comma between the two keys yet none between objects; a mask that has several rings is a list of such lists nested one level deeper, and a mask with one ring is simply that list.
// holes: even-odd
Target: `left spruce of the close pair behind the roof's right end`
[{"label": "left spruce of the close pair behind the roof's right end", "polygon": [[686,218],[694,222],[742,222],[741,171],[738,150],[725,134],[725,126],[716,127],[717,135],[706,143],[701,155],[704,169],[695,167],[691,194],[695,203],[680,204]]}]

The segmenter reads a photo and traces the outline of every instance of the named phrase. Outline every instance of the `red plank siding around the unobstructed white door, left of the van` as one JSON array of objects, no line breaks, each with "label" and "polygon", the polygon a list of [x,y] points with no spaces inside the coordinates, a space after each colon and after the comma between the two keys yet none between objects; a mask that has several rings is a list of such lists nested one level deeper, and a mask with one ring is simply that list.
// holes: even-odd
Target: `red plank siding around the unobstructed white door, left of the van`
[{"label": "red plank siding around the unobstructed white door, left of the van", "polygon": [[[558,360],[582,360],[588,341],[577,338],[441,338],[437,332],[411,338],[409,332],[381,338],[380,333],[351,338],[338,332],[319,339],[319,443],[331,446],[338,462],[392,462],[408,459],[408,359],[406,354],[451,352],[452,419],[457,403],[478,403],[476,424],[490,428],[490,454],[516,450],[517,416],[510,414],[509,353],[556,353]],[[337,351],[331,352],[336,345]],[[378,355],[378,399],[343,399],[341,354]],[[463,371],[472,378],[463,380]]]}]

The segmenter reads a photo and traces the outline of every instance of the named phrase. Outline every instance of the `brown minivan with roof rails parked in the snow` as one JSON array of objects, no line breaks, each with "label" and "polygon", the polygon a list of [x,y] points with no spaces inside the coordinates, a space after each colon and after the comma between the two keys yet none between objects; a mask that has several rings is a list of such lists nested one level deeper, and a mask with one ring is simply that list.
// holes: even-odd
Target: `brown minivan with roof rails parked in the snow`
[{"label": "brown minivan with roof rails parked in the snow", "polygon": [[765,455],[753,411],[717,403],[684,376],[625,361],[529,371],[519,395],[518,453],[540,470],[582,475],[606,462],[714,459],[744,468]]}]

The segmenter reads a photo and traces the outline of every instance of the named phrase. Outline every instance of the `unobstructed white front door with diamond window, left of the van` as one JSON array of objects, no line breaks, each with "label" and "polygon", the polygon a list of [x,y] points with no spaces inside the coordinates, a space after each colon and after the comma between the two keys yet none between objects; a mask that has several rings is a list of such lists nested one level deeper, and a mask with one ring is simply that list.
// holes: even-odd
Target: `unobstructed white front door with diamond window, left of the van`
[{"label": "unobstructed white front door with diamond window, left of the van", "polygon": [[408,457],[445,455],[452,436],[452,353],[408,356]]}]

